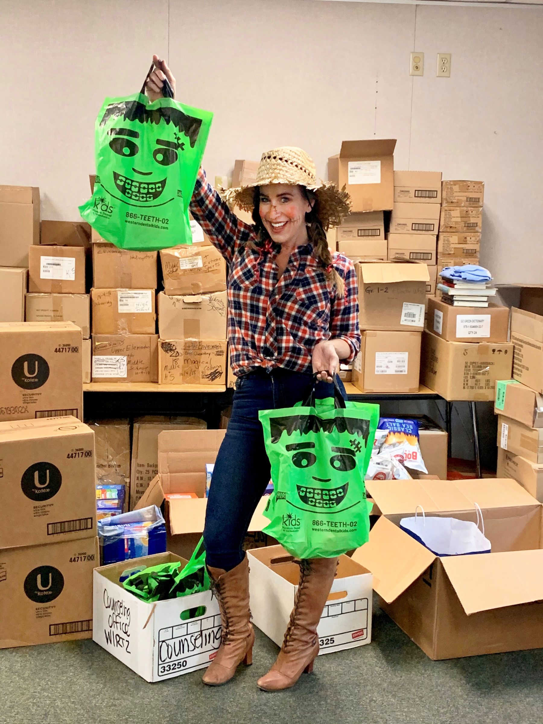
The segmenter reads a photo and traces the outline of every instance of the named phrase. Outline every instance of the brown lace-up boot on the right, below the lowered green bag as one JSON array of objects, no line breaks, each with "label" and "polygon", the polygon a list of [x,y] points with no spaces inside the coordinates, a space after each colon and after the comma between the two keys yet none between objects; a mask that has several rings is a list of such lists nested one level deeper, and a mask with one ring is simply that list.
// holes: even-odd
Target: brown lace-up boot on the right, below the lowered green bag
[{"label": "brown lace-up boot on the right, below the lowered green bag", "polygon": [[337,560],[310,558],[297,561],[300,566],[300,584],[290,614],[290,623],[277,661],[266,675],[258,679],[260,689],[289,689],[304,671],[313,671],[313,660],[319,653],[316,628],[334,581]]}]

